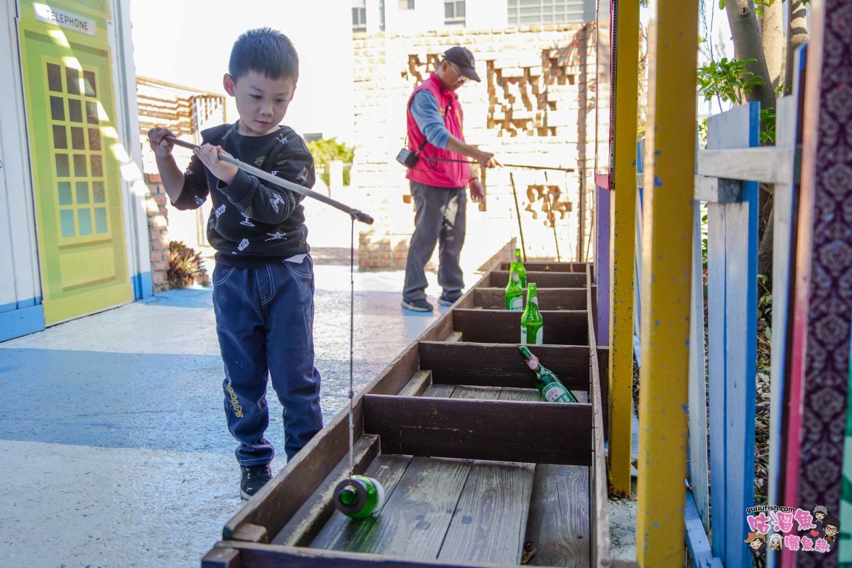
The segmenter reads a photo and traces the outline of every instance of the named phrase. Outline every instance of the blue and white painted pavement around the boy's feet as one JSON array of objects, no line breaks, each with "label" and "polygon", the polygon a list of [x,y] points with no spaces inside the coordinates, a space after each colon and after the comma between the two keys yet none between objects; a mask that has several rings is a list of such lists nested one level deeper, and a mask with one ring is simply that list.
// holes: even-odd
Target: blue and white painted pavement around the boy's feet
[{"label": "blue and white painted pavement around the boy's feet", "polygon": [[[328,422],[347,402],[348,249],[314,257]],[[402,273],[358,273],[355,288],[357,389],[439,313],[403,313]],[[240,507],[239,469],[210,292],[174,290],[0,343],[3,565],[197,566],[221,536]],[[274,396],[269,406],[268,437],[283,448]],[[273,472],[284,465],[282,451]]]}]

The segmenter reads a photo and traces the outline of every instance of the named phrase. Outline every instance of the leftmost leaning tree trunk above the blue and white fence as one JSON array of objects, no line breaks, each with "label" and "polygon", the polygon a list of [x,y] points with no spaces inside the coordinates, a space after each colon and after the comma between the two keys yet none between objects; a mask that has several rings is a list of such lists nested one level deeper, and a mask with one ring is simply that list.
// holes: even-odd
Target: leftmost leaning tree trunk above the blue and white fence
[{"label": "leftmost leaning tree trunk above the blue and white fence", "polygon": [[760,101],[761,110],[774,108],[775,93],[769,82],[769,70],[766,66],[766,56],[763,55],[760,24],[754,12],[754,3],[751,0],[728,0],[725,3],[725,11],[728,13],[728,23],[734,35],[734,57],[738,60],[754,59],[746,64],[746,68],[763,81],[762,85],[757,85],[746,95],[746,100]]}]

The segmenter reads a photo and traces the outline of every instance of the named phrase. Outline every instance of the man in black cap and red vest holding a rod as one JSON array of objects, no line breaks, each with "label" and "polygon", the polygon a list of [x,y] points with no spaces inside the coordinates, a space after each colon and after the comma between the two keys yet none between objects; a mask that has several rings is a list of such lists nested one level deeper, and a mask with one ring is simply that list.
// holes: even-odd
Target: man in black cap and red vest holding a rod
[{"label": "man in black cap and red vest holding a rod", "polygon": [[474,56],[468,49],[456,46],[444,52],[435,72],[408,99],[408,144],[420,159],[406,175],[416,212],[402,307],[414,312],[434,309],[426,301],[423,269],[435,250],[435,241],[440,243],[438,284],[442,291],[438,303],[450,306],[462,295],[464,282],[458,256],[464,244],[464,188],[470,186],[474,203],[485,198],[485,187],[464,158],[474,158],[483,168],[500,165],[491,152],[464,143],[462,107],[456,90],[469,79],[480,80]]}]

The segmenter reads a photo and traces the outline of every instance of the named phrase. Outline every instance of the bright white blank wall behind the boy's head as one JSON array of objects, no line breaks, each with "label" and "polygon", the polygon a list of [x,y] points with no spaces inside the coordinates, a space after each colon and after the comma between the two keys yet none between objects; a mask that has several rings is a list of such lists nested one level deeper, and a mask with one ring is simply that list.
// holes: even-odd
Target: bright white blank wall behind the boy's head
[{"label": "bright white blank wall behind the boy's head", "polygon": [[[296,132],[353,139],[352,11],[340,0],[131,0],[136,72],[224,94],[233,42],[254,27],[290,37],[299,83],[285,123]],[[227,99],[227,119],[238,118]]]}]

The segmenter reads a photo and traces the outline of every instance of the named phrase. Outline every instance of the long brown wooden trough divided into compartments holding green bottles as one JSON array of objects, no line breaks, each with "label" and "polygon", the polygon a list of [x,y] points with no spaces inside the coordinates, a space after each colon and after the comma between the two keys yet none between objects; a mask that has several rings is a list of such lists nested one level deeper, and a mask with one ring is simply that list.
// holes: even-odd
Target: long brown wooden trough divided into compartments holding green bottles
[{"label": "long brown wooden trough divided into compartments holding green bottles", "polygon": [[[542,273],[584,278],[583,303],[594,305],[596,291],[587,265],[583,273],[571,274],[576,263],[547,264],[550,270]],[[359,528],[331,506],[333,488],[348,473],[344,410],[228,521],[223,541],[202,565],[496,566],[494,560],[506,560],[513,553],[517,557],[512,565],[518,565],[525,534],[540,544],[538,561],[533,562],[538,565],[578,555],[588,559],[583,565],[586,561],[607,565],[605,415],[598,357],[606,360],[608,350],[594,344],[591,310],[545,310],[551,333],[579,344],[536,346],[534,352],[581,400],[588,391],[590,402],[538,401],[517,344],[469,341],[485,333],[481,329],[500,336],[519,325],[515,322],[519,313],[478,305],[477,290],[488,288],[491,278],[486,274],[354,399],[355,470],[385,479],[383,485],[392,497],[388,510]],[[394,514],[411,515],[416,496],[423,495],[417,492],[418,479],[435,468],[443,468],[454,479],[451,485],[439,484],[449,491],[445,501],[452,507],[440,513],[445,505],[439,505],[429,513],[433,524],[429,531],[440,532],[424,552],[420,545],[400,540],[412,525],[403,523],[399,532],[380,523],[384,515],[389,519],[395,519]],[[395,472],[394,477],[388,478],[389,472]],[[509,486],[515,489],[504,491],[504,497],[494,502],[492,491],[504,486],[504,482],[492,485],[498,477],[513,479]],[[579,493],[565,499],[564,491]],[[596,491],[594,496],[591,491]],[[481,513],[485,503],[492,503],[487,510],[499,506],[499,512]],[[465,508],[473,515],[474,526],[459,516]],[[572,508],[582,514],[582,534],[566,540],[562,521],[553,525],[544,519],[570,518]],[[578,526],[576,520],[572,523]],[[377,538],[384,544],[374,542]],[[457,564],[459,559],[465,561]]]}]

